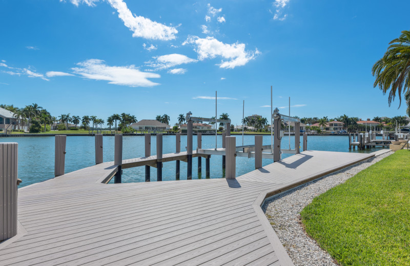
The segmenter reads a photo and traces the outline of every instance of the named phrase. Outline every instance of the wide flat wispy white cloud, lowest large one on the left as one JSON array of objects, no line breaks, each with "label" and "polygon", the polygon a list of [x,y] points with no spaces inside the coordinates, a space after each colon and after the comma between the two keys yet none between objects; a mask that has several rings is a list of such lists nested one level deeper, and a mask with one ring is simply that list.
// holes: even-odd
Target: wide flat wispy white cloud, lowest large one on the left
[{"label": "wide flat wispy white cloud, lowest large one on the left", "polygon": [[130,87],[151,87],[158,85],[148,78],[160,78],[159,74],[139,71],[134,65],[109,66],[104,60],[89,59],[77,63],[73,68],[75,74],[94,80],[106,80],[109,84],[125,85]]}]

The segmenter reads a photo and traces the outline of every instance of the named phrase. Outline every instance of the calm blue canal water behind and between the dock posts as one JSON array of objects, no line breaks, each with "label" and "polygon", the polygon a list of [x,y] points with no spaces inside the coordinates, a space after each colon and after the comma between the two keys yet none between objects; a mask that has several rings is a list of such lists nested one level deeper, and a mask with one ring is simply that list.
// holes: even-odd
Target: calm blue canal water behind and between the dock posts
[{"label": "calm blue canal water behind and between the dock posts", "polygon": [[[301,138],[302,140],[302,138]],[[20,186],[27,186],[54,178],[54,137],[15,137],[0,138],[0,142],[18,143],[18,178],[23,180]],[[151,154],[155,155],[156,137],[151,140]],[[244,145],[254,144],[254,136],[244,136]],[[187,136],[181,136],[181,150],[185,150]],[[193,146],[196,148],[196,136],[193,137]],[[242,144],[242,136],[237,136],[236,145]],[[271,136],[263,136],[263,145],[271,144]],[[302,143],[301,143],[302,144]],[[218,136],[218,147],[222,146],[222,137]],[[214,148],[215,136],[202,136],[202,148]],[[288,137],[282,138],[282,148],[289,147]],[[291,136],[291,148],[294,148],[294,136]],[[308,149],[345,151],[348,150],[347,136],[309,136]],[[122,159],[131,159],[144,156],[144,136],[123,137]],[[372,152],[376,149],[367,149]],[[95,164],[94,138],[93,137],[67,137],[66,146],[66,173]],[[175,136],[163,136],[163,153],[175,152]],[[351,152],[358,152],[351,151]],[[283,154],[282,158],[290,156]],[[104,137],[104,162],[114,161],[114,137]],[[192,178],[197,179],[197,162],[193,158]],[[270,159],[263,159],[262,164],[272,163]],[[236,158],[237,176],[254,170],[254,159],[244,157]],[[205,160],[202,159],[202,178],[205,175]],[[211,156],[211,178],[222,178],[222,157]],[[187,164],[180,163],[180,179],[187,179]],[[163,163],[162,180],[175,180],[175,162]],[[145,168],[135,167],[125,169],[122,182],[144,182]],[[156,181],[156,168],[151,168],[151,181]]]}]

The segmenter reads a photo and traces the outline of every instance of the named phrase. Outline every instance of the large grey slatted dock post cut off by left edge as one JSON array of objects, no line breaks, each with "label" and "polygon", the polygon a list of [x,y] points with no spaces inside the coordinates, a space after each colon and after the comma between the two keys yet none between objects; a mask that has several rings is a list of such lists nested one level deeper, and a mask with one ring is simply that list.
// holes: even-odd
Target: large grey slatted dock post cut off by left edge
[{"label": "large grey slatted dock post cut off by left edge", "polygon": [[0,143],[0,241],[17,234],[17,146]]}]

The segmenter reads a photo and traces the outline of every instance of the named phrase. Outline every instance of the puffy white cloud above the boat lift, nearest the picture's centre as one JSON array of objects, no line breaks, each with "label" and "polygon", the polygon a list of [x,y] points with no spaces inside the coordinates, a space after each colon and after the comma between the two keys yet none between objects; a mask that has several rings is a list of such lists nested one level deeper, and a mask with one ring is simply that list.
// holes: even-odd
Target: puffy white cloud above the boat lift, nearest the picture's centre
[{"label": "puffy white cloud above the boat lift, nearest the picture's centre", "polygon": [[220,56],[228,61],[221,60],[219,68],[233,69],[236,66],[247,64],[250,60],[254,59],[256,55],[260,54],[258,49],[255,51],[245,51],[244,43],[233,43],[232,45],[223,43],[214,37],[199,38],[198,36],[188,37],[182,45],[192,43],[196,46],[194,49],[198,54],[199,60],[207,58],[215,58]]}]

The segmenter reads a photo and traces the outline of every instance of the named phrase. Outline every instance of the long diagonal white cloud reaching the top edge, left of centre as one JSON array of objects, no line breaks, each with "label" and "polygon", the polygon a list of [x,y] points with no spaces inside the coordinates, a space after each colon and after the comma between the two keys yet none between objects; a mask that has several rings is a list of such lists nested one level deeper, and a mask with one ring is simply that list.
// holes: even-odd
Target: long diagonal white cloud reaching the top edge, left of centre
[{"label": "long diagonal white cloud reaching the top edge, left of centre", "polygon": [[107,1],[117,10],[118,17],[124,21],[124,25],[133,32],[133,37],[158,40],[176,38],[175,35],[178,33],[176,28],[157,23],[143,16],[134,16],[122,0]]}]

